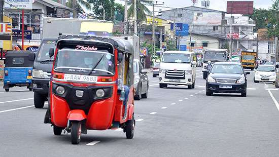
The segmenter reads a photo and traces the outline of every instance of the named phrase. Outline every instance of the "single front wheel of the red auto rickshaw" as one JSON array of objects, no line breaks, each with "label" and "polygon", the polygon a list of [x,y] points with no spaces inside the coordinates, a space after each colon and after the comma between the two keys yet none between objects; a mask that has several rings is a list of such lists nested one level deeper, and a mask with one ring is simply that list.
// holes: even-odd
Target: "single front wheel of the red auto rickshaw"
[{"label": "single front wheel of the red auto rickshaw", "polygon": [[81,141],[81,123],[74,121],[71,128],[71,142],[72,144],[79,144]]}]

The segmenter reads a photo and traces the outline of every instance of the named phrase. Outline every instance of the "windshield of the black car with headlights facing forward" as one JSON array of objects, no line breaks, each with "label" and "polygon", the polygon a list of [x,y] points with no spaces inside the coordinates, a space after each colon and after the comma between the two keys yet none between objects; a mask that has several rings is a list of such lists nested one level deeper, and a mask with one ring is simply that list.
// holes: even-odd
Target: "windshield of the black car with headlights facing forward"
[{"label": "windshield of the black car with headlights facing forward", "polygon": [[211,69],[211,73],[243,73],[243,69],[241,65],[215,64]]}]

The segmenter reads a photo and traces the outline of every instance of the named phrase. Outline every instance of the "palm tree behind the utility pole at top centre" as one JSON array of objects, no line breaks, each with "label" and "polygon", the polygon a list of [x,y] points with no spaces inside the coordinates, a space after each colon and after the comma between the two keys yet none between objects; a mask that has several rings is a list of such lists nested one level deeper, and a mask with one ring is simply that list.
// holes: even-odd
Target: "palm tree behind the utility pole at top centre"
[{"label": "palm tree behind the utility pole at top centre", "polygon": [[151,11],[145,5],[152,5],[153,1],[148,0],[129,0],[130,8],[128,9],[128,17],[134,16],[134,1],[136,1],[136,17],[138,21],[147,21],[146,14],[151,14]]}]

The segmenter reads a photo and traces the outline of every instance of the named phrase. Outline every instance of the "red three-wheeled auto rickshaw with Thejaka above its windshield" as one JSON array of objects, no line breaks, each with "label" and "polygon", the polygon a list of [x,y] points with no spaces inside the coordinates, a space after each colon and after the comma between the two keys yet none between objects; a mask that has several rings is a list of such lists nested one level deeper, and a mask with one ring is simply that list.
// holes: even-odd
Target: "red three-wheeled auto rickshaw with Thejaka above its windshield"
[{"label": "red three-wheeled auto rickshaw with Thejaka above its windshield", "polygon": [[122,128],[134,135],[133,47],[96,36],[58,37],[45,122],[54,135],[71,133],[79,144],[87,130]]}]

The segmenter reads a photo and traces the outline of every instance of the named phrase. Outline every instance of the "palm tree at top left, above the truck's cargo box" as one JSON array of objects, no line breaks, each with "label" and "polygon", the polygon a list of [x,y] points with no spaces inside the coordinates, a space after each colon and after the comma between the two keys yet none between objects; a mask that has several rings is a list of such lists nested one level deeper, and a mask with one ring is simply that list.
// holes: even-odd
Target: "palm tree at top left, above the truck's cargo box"
[{"label": "palm tree at top left, above the truck's cargo box", "polygon": [[91,9],[90,3],[83,0],[69,0],[66,6],[73,9],[73,18],[78,18],[77,10],[82,10],[81,6],[84,6],[88,10]]}]

